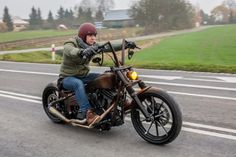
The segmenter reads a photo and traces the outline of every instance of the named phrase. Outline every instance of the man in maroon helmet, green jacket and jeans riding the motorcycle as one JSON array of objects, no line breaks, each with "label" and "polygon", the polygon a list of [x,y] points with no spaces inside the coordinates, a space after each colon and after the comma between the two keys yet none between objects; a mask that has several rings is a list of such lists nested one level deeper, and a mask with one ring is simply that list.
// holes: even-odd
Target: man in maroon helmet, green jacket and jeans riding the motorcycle
[{"label": "man in maroon helmet, green jacket and jeans riding the motorcycle", "polygon": [[[60,68],[60,78],[63,88],[75,92],[80,109],[77,115],[81,124],[94,123],[99,116],[93,112],[88,101],[84,84],[99,76],[89,73],[89,62],[98,50],[96,43],[97,31],[93,24],[84,23],[80,26],[78,36],[64,44],[63,61]],[[134,42],[127,42],[126,48],[135,47]],[[115,50],[121,50],[121,44],[113,44]],[[109,51],[109,50],[107,50]]]}]

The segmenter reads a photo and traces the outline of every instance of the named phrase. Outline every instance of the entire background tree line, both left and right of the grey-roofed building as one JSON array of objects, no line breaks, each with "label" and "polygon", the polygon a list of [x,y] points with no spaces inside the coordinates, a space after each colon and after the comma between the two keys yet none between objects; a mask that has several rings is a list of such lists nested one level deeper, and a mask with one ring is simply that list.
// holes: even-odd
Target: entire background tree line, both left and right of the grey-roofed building
[{"label": "entire background tree line, both left and right of the grey-roofed building", "polygon": [[[93,3],[91,0],[82,0],[73,10],[61,6],[56,15],[49,11],[45,20],[41,17],[40,8],[32,7],[28,29],[54,29],[59,24],[77,28],[84,22],[103,21],[104,13],[113,7],[113,0],[97,0]],[[228,24],[236,23],[236,0],[224,0],[211,11],[211,15],[186,0],[140,0],[131,6],[129,13],[136,24],[145,28],[146,33],[192,28],[196,23]],[[13,24],[7,7],[3,21],[5,28],[11,31]]]}]

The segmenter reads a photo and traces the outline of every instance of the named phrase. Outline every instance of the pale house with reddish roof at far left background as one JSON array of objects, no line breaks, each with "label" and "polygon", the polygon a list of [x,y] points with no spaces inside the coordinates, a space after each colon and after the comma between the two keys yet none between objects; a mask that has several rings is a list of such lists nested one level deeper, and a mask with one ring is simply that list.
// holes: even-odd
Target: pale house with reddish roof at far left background
[{"label": "pale house with reddish roof at far left background", "polygon": [[[12,22],[13,22],[13,27],[14,27],[13,31],[21,31],[21,30],[26,29],[29,26],[28,21],[22,20],[19,17],[13,17]],[[3,23],[2,19],[0,19],[0,23]]]}]

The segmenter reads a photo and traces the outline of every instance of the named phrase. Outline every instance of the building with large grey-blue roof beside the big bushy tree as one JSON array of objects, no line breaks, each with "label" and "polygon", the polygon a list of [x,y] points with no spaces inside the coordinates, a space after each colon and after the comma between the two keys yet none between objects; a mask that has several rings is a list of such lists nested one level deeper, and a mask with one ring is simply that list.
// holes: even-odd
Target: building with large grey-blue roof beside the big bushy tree
[{"label": "building with large grey-blue roof beside the big bushy tree", "polygon": [[109,10],[105,13],[103,26],[108,28],[131,27],[135,25],[129,9]]}]

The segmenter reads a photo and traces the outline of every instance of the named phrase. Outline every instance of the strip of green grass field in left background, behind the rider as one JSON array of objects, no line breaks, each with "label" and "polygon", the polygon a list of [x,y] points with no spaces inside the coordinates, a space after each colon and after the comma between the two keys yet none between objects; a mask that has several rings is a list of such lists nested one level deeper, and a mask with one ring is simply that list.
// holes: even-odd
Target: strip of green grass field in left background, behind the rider
[{"label": "strip of green grass field in left background, behind the rider", "polygon": [[63,35],[73,35],[77,30],[58,31],[58,30],[35,30],[22,32],[6,32],[0,33],[0,43],[16,40],[55,37]]}]

